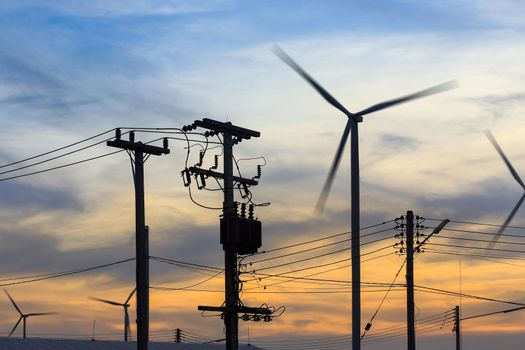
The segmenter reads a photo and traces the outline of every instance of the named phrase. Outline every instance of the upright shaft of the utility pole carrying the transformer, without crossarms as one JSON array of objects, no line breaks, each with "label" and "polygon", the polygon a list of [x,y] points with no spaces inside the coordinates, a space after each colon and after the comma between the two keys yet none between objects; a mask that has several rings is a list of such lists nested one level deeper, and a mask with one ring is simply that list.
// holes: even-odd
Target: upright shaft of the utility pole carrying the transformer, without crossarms
[{"label": "upright shaft of the utility pole carrying the transformer, without crossarms", "polygon": [[[226,225],[229,218],[233,216],[233,140],[232,134],[225,130],[223,132],[224,144],[224,203],[223,217]],[[227,228],[227,230],[230,230]],[[224,274],[226,292],[226,312],[224,313],[224,325],[226,327],[226,349],[237,350],[239,348],[239,319],[237,317],[237,301],[239,290],[237,288],[237,253],[234,249],[224,247]]]}]

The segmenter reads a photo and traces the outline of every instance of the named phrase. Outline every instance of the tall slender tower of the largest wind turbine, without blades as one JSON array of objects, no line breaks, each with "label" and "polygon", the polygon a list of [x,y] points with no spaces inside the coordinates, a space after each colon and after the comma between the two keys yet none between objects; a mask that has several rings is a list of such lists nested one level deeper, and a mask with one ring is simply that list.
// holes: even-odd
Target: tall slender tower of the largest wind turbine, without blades
[{"label": "tall slender tower of the largest wind turbine, without blades", "polygon": [[359,135],[358,122],[351,121],[351,256],[352,256],[352,350],[361,349],[361,252],[359,223]]}]

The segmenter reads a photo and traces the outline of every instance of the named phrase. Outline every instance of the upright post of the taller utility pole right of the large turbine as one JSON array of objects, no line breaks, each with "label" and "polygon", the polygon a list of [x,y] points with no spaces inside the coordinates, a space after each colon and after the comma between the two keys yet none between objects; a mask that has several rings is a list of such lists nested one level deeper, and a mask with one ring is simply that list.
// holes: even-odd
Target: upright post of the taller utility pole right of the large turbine
[{"label": "upright post of the taller utility pole right of the large turbine", "polygon": [[414,317],[414,213],[409,210],[406,216],[407,233],[407,343],[408,350],[416,350],[416,330]]}]

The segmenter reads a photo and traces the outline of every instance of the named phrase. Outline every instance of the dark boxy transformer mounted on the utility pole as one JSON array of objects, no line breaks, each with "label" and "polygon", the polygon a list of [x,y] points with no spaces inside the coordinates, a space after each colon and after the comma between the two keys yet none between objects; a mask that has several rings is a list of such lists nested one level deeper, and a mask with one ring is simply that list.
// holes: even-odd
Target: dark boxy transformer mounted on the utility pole
[{"label": "dark boxy transformer mounted on the utility pole", "polygon": [[221,218],[221,244],[238,254],[257,253],[262,245],[262,225],[259,220],[230,217]]}]

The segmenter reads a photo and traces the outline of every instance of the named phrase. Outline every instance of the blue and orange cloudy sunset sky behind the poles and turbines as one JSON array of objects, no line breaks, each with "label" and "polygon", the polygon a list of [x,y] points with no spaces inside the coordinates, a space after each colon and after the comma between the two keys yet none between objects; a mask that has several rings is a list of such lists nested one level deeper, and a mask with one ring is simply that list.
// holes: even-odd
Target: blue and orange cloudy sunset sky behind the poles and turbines
[{"label": "blue and orange cloudy sunset sky behind the poles and turbines", "polygon": [[[101,143],[26,169],[6,172],[16,167],[0,168],[0,284],[133,255],[133,183],[125,154],[5,180],[108,153],[111,150],[102,141],[113,135],[105,132],[116,127],[181,128],[197,119],[213,118],[260,131],[260,138],[243,141],[234,152],[239,160],[265,158],[260,183],[253,189],[254,202],[271,202],[256,209],[263,224],[261,250],[348,231],[348,149],[325,213],[319,216],[313,210],[345,116],[271,52],[272,45],[278,44],[350,111],[458,80],[458,89],[365,116],[361,123],[362,226],[388,222],[363,230],[363,234],[376,235],[365,242],[373,237],[384,240],[362,250],[369,253],[398,241],[392,220],[407,210],[427,218],[423,224],[429,227],[449,218],[455,221],[449,227],[455,231],[444,231],[442,236],[449,238],[436,237],[431,243],[461,247],[429,245],[416,259],[416,284],[525,302],[523,256],[508,252],[520,250],[522,229],[505,231],[512,236],[501,239],[510,243],[496,245],[502,251],[464,248],[485,247],[479,239],[492,237],[464,231],[497,230],[469,222],[501,225],[523,194],[484,130],[492,131],[517,173],[524,174],[524,7],[519,1],[476,0],[1,2],[0,163],[98,134],[90,142]],[[146,142],[161,136],[139,132],[136,138]],[[150,252],[221,267],[220,211],[190,200],[180,176],[186,166],[185,147],[184,140],[170,140],[170,155],[152,157],[146,163]],[[190,149],[188,164],[192,165],[198,161],[200,148]],[[208,151],[205,166],[211,166],[214,154],[220,155],[220,150]],[[243,176],[252,177],[258,164],[264,161],[240,160],[239,168]],[[192,195],[205,206],[216,208],[222,203],[219,191],[193,188]],[[511,225],[524,226],[523,213],[519,209]],[[458,237],[478,241],[454,239]],[[244,261],[248,270],[266,267],[272,273],[305,276],[320,270],[293,271],[350,255],[346,249],[314,259],[323,252],[348,248],[348,242],[343,242],[313,249],[319,245],[301,245],[283,254],[261,254]],[[391,282],[404,258],[394,252],[390,247],[371,253],[377,259],[363,262],[363,281]],[[391,254],[379,257],[383,253]],[[308,257],[312,259],[298,261]],[[150,269],[150,285],[158,287],[187,287],[211,277],[209,271],[158,261],[151,261]],[[350,271],[340,268],[319,277],[348,281]],[[397,282],[403,277],[401,272]],[[272,348],[290,339],[297,344],[305,339],[348,339],[348,288],[343,293],[340,286],[297,281],[269,286],[283,281],[257,283],[251,274],[245,278],[245,304],[286,306],[286,311],[270,323],[241,321],[241,342]],[[121,332],[122,310],[89,297],[124,301],[133,285],[134,265],[128,262],[7,288],[23,311],[59,312],[31,319],[30,335],[89,337],[96,320],[99,337],[111,338]],[[197,306],[220,305],[223,295],[217,291],[222,288],[217,277],[198,285],[207,291],[152,289],[152,331],[178,327],[220,339],[222,321],[202,317]],[[321,288],[323,292],[335,289],[318,293]],[[363,326],[384,294],[363,293]],[[403,326],[404,298],[403,290],[388,295],[363,347],[405,347],[404,338],[373,341],[374,331],[380,334],[387,327]],[[419,290],[416,319],[444,314],[459,304],[463,317],[512,308]],[[7,297],[0,298],[0,310],[0,334],[6,335],[18,316]],[[524,321],[523,312],[465,320],[463,347],[484,350],[502,344],[519,349]],[[418,333],[418,345],[425,349],[453,344],[451,326],[446,323]]]}]

